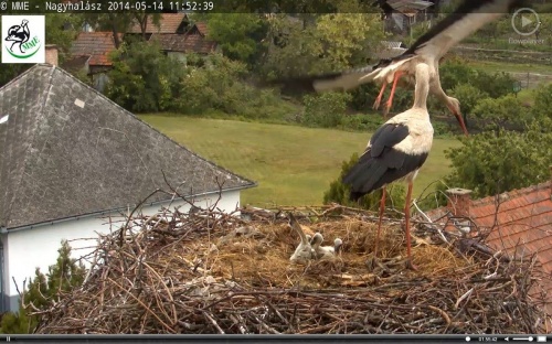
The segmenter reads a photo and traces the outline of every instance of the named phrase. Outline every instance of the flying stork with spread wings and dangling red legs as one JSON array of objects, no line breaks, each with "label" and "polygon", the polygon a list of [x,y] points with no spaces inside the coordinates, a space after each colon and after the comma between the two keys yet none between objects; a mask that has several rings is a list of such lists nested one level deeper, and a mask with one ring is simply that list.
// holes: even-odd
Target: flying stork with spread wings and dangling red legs
[{"label": "flying stork with spread wings and dangling red legs", "polygon": [[295,79],[276,80],[275,84],[299,86],[308,90],[328,92],[347,90],[369,82],[382,85],[374,103],[380,106],[383,92],[388,84],[393,83],[391,95],[386,101],[385,114],[391,109],[397,82],[406,76],[411,85],[415,83],[414,74],[418,63],[425,63],[433,72],[429,78],[429,93],[435,95],[458,120],[465,135],[468,135],[460,114],[458,99],[449,97],[443,90],[439,79],[439,61],[458,42],[470,35],[485,24],[492,22],[507,13],[522,0],[466,0],[452,14],[433,26],[424,35],[399,56],[381,60],[378,64],[346,72],[329,73],[318,76],[299,77]]}]

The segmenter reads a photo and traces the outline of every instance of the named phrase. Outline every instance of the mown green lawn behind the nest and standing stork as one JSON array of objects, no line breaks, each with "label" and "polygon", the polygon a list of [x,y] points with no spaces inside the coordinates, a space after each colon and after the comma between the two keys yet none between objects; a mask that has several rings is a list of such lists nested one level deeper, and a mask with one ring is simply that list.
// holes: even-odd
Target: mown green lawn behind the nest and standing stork
[{"label": "mown green lawn behind the nest and standing stork", "polygon": [[[296,126],[176,116],[141,119],[200,155],[251,180],[258,186],[242,194],[243,204],[316,205],[353,152],[362,152],[370,133]],[[436,139],[415,184],[422,192],[448,172],[444,150],[460,143]],[[415,193],[417,194],[417,193]]]}]

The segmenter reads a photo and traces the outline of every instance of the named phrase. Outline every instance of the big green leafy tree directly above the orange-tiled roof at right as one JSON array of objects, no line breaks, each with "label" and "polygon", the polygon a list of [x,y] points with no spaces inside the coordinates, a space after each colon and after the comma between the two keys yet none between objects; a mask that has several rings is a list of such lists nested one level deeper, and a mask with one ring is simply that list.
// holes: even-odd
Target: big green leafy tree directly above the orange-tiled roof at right
[{"label": "big green leafy tree directly above the orange-tiled roof at right", "polygon": [[461,138],[463,146],[446,151],[453,187],[474,191],[476,197],[526,187],[550,178],[552,120],[532,122],[524,132],[499,129]]}]

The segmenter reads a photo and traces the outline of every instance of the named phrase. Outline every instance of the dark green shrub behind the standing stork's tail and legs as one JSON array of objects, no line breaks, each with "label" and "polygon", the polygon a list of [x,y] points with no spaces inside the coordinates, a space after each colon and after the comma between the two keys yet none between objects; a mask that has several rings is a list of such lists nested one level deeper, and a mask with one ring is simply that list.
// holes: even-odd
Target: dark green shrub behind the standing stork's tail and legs
[{"label": "dark green shrub behind the standing stork's tail and legs", "polygon": [[[343,161],[341,164],[341,172],[337,180],[330,183],[330,189],[323,193],[323,204],[329,204],[331,202],[339,203],[347,206],[355,206],[370,211],[379,211],[380,200],[382,196],[382,190],[375,190],[374,192],[361,197],[358,203],[349,200],[349,186],[343,184],[341,180],[349,172],[349,170],[359,161],[359,154],[353,153],[349,161]],[[405,187],[401,184],[393,184],[388,187],[388,196],[385,197],[385,205],[392,206],[394,208],[404,207],[405,198]]]}]

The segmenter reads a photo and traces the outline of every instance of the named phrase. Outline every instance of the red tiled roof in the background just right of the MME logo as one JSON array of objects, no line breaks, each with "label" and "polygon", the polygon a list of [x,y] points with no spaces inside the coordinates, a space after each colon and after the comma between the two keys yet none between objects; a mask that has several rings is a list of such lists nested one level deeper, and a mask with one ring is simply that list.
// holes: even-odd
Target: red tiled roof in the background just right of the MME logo
[{"label": "red tiled roof in the background just right of the MME logo", "polygon": [[[121,33],[119,40],[123,40]],[[89,65],[110,66],[108,54],[114,50],[113,32],[81,32],[71,46],[71,55],[91,56]]]}]

